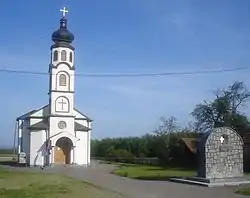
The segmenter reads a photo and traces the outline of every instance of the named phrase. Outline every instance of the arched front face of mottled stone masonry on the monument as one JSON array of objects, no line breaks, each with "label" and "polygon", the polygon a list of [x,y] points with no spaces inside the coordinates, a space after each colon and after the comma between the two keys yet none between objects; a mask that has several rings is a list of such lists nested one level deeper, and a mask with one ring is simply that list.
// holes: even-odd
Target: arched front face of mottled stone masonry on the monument
[{"label": "arched front face of mottled stone masonry on the monument", "polygon": [[243,176],[242,139],[230,128],[214,129],[205,144],[205,160],[206,178]]}]

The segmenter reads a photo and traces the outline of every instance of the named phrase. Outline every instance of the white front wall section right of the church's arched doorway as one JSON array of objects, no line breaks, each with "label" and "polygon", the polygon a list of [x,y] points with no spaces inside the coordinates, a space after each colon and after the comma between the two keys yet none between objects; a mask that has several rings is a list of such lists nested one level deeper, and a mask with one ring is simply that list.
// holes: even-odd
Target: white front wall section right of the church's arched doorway
[{"label": "white front wall section right of the church's arched doorway", "polygon": [[76,142],[75,163],[78,165],[88,164],[88,132],[77,131],[76,136],[80,139]]}]

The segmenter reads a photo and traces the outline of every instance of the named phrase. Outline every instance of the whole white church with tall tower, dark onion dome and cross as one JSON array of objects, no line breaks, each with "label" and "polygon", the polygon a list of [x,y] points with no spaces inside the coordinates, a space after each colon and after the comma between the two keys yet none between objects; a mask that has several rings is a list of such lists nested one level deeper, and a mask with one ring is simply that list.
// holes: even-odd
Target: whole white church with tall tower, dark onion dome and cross
[{"label": "whole white church with tall tower, dark onion dome and cross", "polygon": [[17,152],[26,154],[30,166],[90,164],[92,120],[74,108],[74,35],[67,28],[68,11],[60,11],[50,48],[49,102],[16,119]]}]

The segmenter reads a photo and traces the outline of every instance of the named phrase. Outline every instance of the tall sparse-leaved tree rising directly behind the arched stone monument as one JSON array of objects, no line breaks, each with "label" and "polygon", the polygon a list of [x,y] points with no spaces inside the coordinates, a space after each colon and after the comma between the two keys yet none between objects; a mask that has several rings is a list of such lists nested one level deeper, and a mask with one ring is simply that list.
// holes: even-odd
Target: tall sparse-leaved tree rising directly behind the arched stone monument
[{"label": "tall sparse-leaved tree rising directly behind the arched stone monument", "polygon": [[243,82],[234,82],[226,89],[215,92],[212,102],[198,104],[191,115],[195,119],[196,130],[205,131],[213,127],[229,126],[236,130],[245,130],[249,122],[240,112],[250,98],[250,92]]}]

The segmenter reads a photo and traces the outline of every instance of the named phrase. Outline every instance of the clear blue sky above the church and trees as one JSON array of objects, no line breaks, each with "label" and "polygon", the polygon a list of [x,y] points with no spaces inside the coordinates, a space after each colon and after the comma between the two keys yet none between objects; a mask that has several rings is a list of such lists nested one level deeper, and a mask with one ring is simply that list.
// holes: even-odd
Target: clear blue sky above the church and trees
[{"label": "clear blue sky above the church and trees", "polygon": [[[249,0],[31,0],[1,4],[0,69],[47,72],[60,8],[69,9],[77,73],[155,73],[249,66]],[[95,138],[153,131],[161,116],[185,125],[213,90],[250,70],[145,78],[76,78],[76,107],[94,119]],[[0,145],[15,118],[48,102],[48,76],[0,73]],[[250,113],[249,109],[245,109]]]}]

